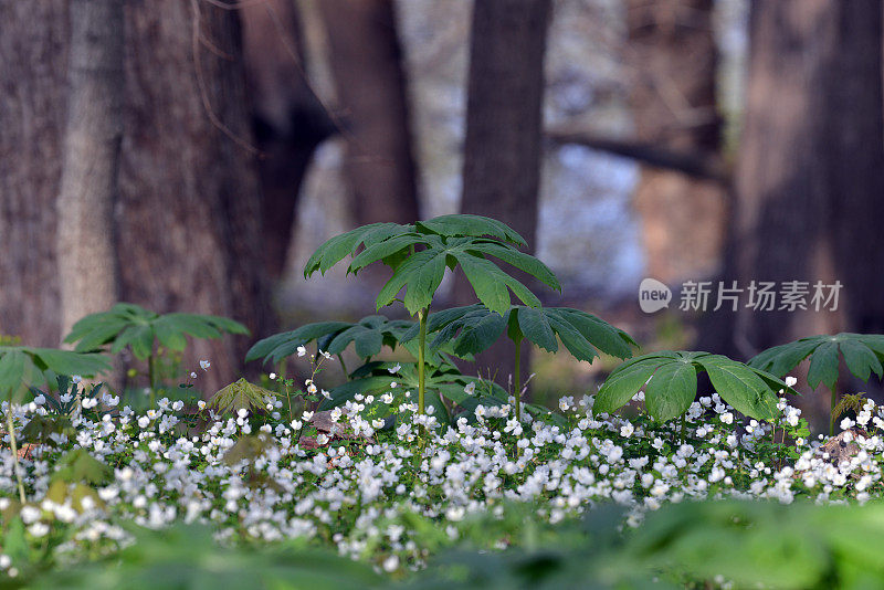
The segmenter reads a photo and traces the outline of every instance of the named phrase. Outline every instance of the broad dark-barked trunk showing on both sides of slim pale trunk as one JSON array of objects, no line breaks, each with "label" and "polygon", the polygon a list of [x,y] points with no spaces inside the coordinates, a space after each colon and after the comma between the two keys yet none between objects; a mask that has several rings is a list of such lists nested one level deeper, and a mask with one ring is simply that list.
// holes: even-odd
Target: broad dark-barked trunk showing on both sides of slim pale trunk
[{"label": "broad dark-barked trunk showing on both sides of slim pale trunk", "polygon": [[[64,161],[69,4],[0,3],[0,331],[42,346],[57,346],[63,336],[55,235],[66,228],[55,220],[55,202]],[[161,313],[231,316],[262,335],[261,200],[243,147],[249,114],[236,13],[161,0],[126,2],[124,19],[114,210],[120,298]],[[232,379],[246,345],[228,338],[193,346],[191,361],[212,361],[201,388]]]}]

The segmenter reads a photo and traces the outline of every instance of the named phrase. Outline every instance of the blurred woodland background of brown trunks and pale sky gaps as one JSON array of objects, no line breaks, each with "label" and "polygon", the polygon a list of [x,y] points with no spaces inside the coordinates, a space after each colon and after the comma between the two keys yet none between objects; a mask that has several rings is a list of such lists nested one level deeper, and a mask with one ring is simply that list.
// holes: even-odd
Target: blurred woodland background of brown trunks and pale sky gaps
[{"label": "blurred woodland background of brown trunks and pale sky gaps", "polygon": [[[113,301],[231,316],[253,337],[190,358],[212,389],[256,337],[372,310],[383,270],[303,280],[319,243],[457,211],[527,239],[564,284],[546,303],[649,350],[882,333],[883,18],[880,0],[0,0],[0,333],[55,346]],[[670,309],[641,313],[644,276]],[[685,281],[754,280],[843,288],[829,313],[677,309]],[[472,303],[456,276],[444,298]],[[477,366],[505,383],[509,358]],[[539,397],[606,369],[524,361]]]}]

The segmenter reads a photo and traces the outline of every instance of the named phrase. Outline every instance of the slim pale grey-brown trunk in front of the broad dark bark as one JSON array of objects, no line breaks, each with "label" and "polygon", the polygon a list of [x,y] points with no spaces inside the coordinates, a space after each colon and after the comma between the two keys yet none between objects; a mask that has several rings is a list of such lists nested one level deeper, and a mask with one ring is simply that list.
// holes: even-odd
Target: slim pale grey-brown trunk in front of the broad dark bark
[{"label": "slim pale grey-brown trunk in front of the broad dark bark", "polygon": [[67,125],[56,201],[62,335],[118,299],[113,208],[123,136],[123,0],[72,0]]}]

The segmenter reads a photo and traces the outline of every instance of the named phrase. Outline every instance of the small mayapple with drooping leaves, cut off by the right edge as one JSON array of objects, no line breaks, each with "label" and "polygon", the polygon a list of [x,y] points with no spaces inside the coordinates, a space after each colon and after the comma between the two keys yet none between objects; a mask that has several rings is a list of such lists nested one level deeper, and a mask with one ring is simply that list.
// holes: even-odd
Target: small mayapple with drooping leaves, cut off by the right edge
[{"label": "small mayapple with drooping leaves, cut off by the right edge", "polygon": [[829,435],[832,436],[838,415],[835,408],[838,407],[839,351],[844,357],[848,370],[863,381],[867,382],[873,372],[880,379],[884,372],[882,369],[884,336],[878,334],[841,333],[834,336],[828,334],[809,336],[793,343],[768,348],[749,360],[749,366],[766,370],[777,377],[783,377],[799,362],[810,357],[808,384],[817,389],[822,382],[832,394],[829,415]]}]

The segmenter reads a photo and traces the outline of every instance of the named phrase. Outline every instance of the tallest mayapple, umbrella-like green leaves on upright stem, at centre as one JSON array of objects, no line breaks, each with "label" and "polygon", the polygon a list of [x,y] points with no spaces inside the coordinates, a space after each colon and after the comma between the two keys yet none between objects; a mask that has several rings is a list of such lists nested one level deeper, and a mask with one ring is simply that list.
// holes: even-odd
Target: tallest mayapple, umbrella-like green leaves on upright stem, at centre
[{"label": "tallest mayapple, umbrella-like green leaves on upright stem, at centre", "polygon": [[561,291],[552,271],[518,250],[525,245],[525,240],[505,223],[480,215],[442,215],[410,224],[371,223],[320,245],[307,261],[304,277],[316,271],[325,274],[347,255],[351,256],[348,274],[357,274],[376,262],[392,268],[392,276],[375,303],[378,309],[390,305],[406,288],[402,303],[418,318],[418,412],[423,414],[427,319],[445,268],[460,266],[478,301],[499,316],[509,309],[511,292],[526,306],[540,307],[540,301],[528,287],[491,260],[505,262]]}]

